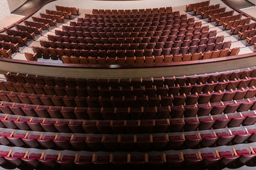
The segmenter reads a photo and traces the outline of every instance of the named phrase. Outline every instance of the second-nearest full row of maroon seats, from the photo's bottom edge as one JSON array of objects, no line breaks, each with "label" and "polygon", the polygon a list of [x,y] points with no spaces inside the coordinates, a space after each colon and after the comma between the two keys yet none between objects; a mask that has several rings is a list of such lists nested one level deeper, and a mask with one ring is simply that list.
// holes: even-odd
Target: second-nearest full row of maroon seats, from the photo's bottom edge
[{"label": "second-nearest full row of maroon seats, from the photo's bottom edge", "polygon": [[[58,127],[58,126],[56,126]],[[58,127],[58,129],[61,128]],[[65,127],[62,127],[65,128]],[[98,131],[104,127],[98,126]],[[163,130],[166,127],[158,127]],[[55,150],[180,150],[184,148],[204,148],[209,146],[222,146],[232,143],[240,144],[248,141],[255,142],[255,125],[246,127],[233,127],[228,129],[215,129],[209,131],[191,131],[161,134],[79,134],[79,133],[54,133],[31,132],[13,129],[1,129],[1,145],[14,145],[31,148],[54,148]],[[85,129],[93,127],[84,125]],[[152,131],[150,125],[141,125],[141,130]],[[147,131],[148,130],[148,131]],[[82,130],[83,131],[83,130]],[[161,131],[160,131],[161,132]]]}]

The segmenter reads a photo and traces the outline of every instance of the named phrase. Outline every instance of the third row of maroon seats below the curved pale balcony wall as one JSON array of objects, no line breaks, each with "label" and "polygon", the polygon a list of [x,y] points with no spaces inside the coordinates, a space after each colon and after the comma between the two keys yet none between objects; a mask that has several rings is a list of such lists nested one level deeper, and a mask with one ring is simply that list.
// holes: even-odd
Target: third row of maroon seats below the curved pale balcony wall
[{"label": "third row of maroon seats below the curved pale balcony wall", "polygon": [[[226,92],[214,92],[207,94],[183,94],[182,96],[173,96],[172,91],[174,90],[155,90],[155,89],[124,89],[124,90],[109,90],[102,89],[88,89],[87,93],[90,97],[67,97],[67,96],[55,96],[56,94],[65,94],[64,90],[47,89],[45,88],[45,94],[24,94],[23,92],[4,92],[0,91],[1,101],[12,101],[13,103],[24,103],[24,104],[42,104],[42,105],[53,105],[53,106],[68,106],[68,107],[104,107],[104,108],[124,108],[124,107],[153,107],[153,106],[179,106],[182,104],[204,104],[204,103],[217,103],[221,101],[232,101],[240,99],[250,99],[255,97],[255,87],[246,90],[230,90]],[[68,91],[68,94],[72,96],[79,94],[79,92],[86,92],[82,89],[77,92],[74,90]],[[146,94],[146,97],[144,96]],[[175,92],[175,91],[174,91]],[[189,93],[189,92],[188,92]],[[86,94],[81,94],[86,96]],[[81,96],[80,95],[80,96]],[[132,97],[134,95],[134,97]],[[149,96],[148,96],[149,95]],[[159,96],[156,96],[159,95]],[[169,95],[169,96],[167,96]],[[99,97],[98,97],[99,96]],[[250,106],[249,106],[250,108]]]}]

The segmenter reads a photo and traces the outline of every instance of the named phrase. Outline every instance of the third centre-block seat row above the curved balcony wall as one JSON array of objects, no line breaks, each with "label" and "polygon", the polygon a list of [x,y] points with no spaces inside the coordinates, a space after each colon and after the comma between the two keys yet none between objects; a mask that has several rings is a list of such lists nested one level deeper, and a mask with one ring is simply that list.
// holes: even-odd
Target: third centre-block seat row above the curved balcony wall
[{"label": "third centre-block seat row above the curved balcony wall", "polygon": [[[53,39],[54,38],[54,39]],[[60,38],[57,36],[54,36],[50,39],[52,40],[56,40],[55,38]],[[67,38],[67,37],[66,37]],[[66,39],[63,37],[63,39]],[[99,52],[102,53],[106,53],[108,50],[113,51],[113,50],[130,50],[130,52],[134,52],[134,50],[144,50],[150,52],[150,50],[152,51],[152,49],[154,49],[155,51],[157,51],[156,49],[161,49],[161,51],[163,51],[164,49],[167,48],[177,48],[177,47],[188,47],[188,46],[198,46],[198,45],[212,45],[214,46],[214,44],[217,43],[222,43],[224,36],[212,36],[210,38],[195,38],[196,39],[184,39],[186,38],[184,35],[183,36],[179,36],[179,39],[182,38],[182,40],[175,40],[178,39],[175,38],[175,36],[169,36],[168,39],[166,40],[166,42],[163,42],[159,39],[158,42],[150,42],[150,38],[149,37],[145,37],[141,39],[141,43],[125,43],[120,41],[121,39],[117,39],[117,43],[114,42],[114,39],[110,39],[111,42],[103,42],[103,43],[94,43],[92,41],[90,41],[89,39],[86,39],[86,41],[90,41],[88,43],[86,43],[86,41],[84,41],[84,43],[68,43],[68,42],[60,42],[60,41],[45,41],[45,40],[40,40],[40,45],[42,47],[45,48],[62,48],[62,49],[76,49],[76,50],[99,50]],[[72,39],[72,38],[70,38]],[[94,38],[93,38],[94,39]],[[184,39],[184,40],[183,40]],[[81,40],[81,39],[80,39]],[[124,39],[123,39],[124,40]],[[126,39],[127,41],[128,39]],[[67,39],[68,41],[68,39]],[[226,41],[227,43],[230,41]],[[225,44],[227,44],[225,43]],[[216,45],[215,45],[216,46]],[[227,46],[227,45],[225,45]],[[170,49],[171,50],[171,49]],[[220,49],[219,49],[220,50]],[[92,52],[93,53],[93,52]],[[133,56],[131,56],[133,57]]]}]

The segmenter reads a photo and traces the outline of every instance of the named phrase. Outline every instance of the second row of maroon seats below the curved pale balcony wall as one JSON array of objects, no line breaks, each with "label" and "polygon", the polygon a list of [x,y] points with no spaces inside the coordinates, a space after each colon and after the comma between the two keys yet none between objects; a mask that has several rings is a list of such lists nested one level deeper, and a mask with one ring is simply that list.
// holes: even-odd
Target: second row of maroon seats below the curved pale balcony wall
[{"label": "second row of maroon seats below the curved pale balcony wall", "polygon": [[[29,80],[29,79],[28,79]],[[60,80],[61,81],[61,80]],[[76,81],[76,80],[74,80]],[[94,81],[94,82],[93,82]],[[254,96],[255,91],[255,78],[244,78],[241,80],[230,80],[230,81],[223,81],[223,82],[216,82],[210,81],[209,83],[202,83],[200,80],[198,81],[198,84],[195,84],[195,82],[188,83],[188,85],[184,85],[185,81],[180,79],[175,82],[174,79],[168,79],[163,81],[161,78],[155,79],[154,81],[154,87],[152,87],[153,82],[150,79],[142,80],[142,84],[140,80],[134,80],[131,82],[130,87],[130,80],[123,80],[120,82],[120,87],[118,87],[119,80],[98,80],[96,82],[95,80],[87,80],[87,87],[84,84],[83,86],[79,85],[79,83],[84,83],[83,80],[80,82],[77,81],[77,87],[74,87],[72,85],[71,87],[64,86],[63,85],[54,85],[54,81],[51,79],[46,81],[49,83],[48,85],[44,85],[44,82],[41,82],[40,84],[29,84],[29,83],[15,83],[15,82],[4,82],[2,81],[0,84],[0,89],[10,92],[20,92],[23,96],[26,96],[26,93],[28,94],[47,94],[47,95],[57,95],[57,96],[79,96],[79,97],[131,97],[131,96],[137,96],[137,97],[144,97],[144,96],[150,96],[150,97],[156,97],[156,96],[183,96],[184,94],[196,94],[199,95],[206,95],[211,98],[211,96],[218,96],[218,99],[223,99],[224,101],[227,101],[226,99],[241,99],[243,96],[246,96],[247,98]],[[183,82],[182,82],[183,81]],[[36,82],[39,82],[36,80]],[[180,85],[179,85],[180,82]],[[35,83],[33,81],[31,83]],[[51,83],[51,84],[50,84]],[[136,84],[135,84],[136,83]],[[174,86],[174,83],[176,83],[176,86]],[[134,86],[132,86],[134,84]],[[165,84],[165,85],[164,85]],[[170,86],[169,86],[169,85]],[[97,87],[97,85],[99,87]],[[141,87],[143,85],[143,87]],[[164,87],[163,87],[164,85]],[[247,88],[248,87],[248,88]],[[214,93],[212,93],[214,92]],[[25,94],[24,94],[25,93]],[[237,95],[236,95],[237,93]],[[218,95],[219,94],[219,95]],[[224,97],[223,96],[229,97]],[[186,97],[186,96],[184,96]],[[195,96],[196,97],[196,96]],[[231,97],[231,98],[230,98]],[[214,97],[214,101],[216,98]]]}]

